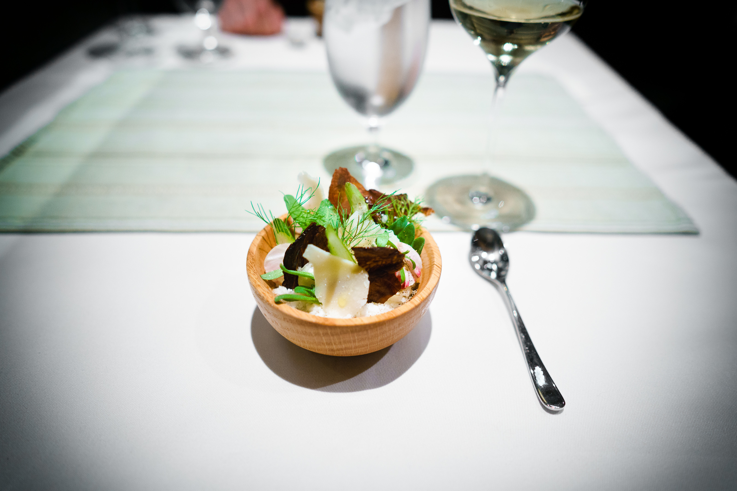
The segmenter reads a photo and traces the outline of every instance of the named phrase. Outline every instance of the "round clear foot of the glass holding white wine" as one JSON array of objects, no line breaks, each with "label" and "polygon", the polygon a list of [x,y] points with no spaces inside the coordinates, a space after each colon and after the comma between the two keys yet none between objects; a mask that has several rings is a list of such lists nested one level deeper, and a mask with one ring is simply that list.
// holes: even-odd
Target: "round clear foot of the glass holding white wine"
[{"label": "round clear foot of the glass holding white wine", "polygon": [[470,230],[509,232],[535,217],[524,191],[487,174],[445,177],[427,189],[425,201],[444,222]]}]

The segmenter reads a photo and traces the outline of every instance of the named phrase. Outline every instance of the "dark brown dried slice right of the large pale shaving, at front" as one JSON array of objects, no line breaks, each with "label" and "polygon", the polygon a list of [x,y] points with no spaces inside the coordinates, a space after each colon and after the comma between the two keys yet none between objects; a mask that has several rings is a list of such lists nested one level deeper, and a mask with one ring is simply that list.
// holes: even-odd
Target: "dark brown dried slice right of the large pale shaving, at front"
[{"label": "dark brown dried slice right of the large pale shaving, at front", "polygon": [[391,247],[353,247],[356,262],[368,272],[368,302],[384,303],[402,289],[396,273],[405,255]]}]

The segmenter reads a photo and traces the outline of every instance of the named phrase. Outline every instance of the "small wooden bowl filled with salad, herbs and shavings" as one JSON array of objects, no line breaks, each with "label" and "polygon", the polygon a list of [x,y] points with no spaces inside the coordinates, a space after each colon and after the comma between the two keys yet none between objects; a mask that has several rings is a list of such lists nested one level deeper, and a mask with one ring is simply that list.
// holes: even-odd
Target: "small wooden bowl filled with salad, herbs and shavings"
[{"label": "small wooden bowl filled with salad, herbs and shavings", "polygon": [[370,353],[401,339],[425,314],[440,276],[439,250],[421,226],[432,209],[366,189],[344,168],[326,198],[309,175],[298,179],[284,215],[253,207],[268,224],[247,261],[262,314],[319,353]]}]

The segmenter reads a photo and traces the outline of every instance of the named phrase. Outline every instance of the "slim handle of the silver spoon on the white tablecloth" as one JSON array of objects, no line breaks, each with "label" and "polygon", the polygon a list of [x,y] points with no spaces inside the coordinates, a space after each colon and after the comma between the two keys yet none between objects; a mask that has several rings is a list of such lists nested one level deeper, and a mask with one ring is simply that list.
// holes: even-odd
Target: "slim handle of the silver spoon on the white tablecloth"
[{"label": "slim handle of the silver spoon on the white tablecloth", "polygon": [[527,333],[525,323],[522,322],[520,312],[517,311],[517,305],[512,300],[509,288],[506,283],[499,280],[493,280],[498,289],[504,292],[504,299],[506,300],[507,308],[509,309],[509,315],[514,323],[514,330],[517,331],[517,339],[520,340],[520,347],[525,354],[525,361],[527,361],[528,369],[530,370],[530,378],[532,379],[532,385],[535,387],[537,392],[537,398],[540,400],[543,406],[550,409],[551,411],[560,411],[565,406],[565,400],[561,395],[558,387],[556,387],[553,378],[545,369],[545,365],[542,364],[542,360],[535,350],[535,345],[532,344],[532,339]]}]

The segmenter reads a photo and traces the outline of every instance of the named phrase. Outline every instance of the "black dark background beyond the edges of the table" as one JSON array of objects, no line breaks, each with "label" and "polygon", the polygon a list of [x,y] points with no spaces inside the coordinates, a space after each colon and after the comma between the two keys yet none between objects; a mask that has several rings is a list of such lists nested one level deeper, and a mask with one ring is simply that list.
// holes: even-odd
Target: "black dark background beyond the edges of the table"
[{"label": "black dark background beyond the edges of the table", "polygon": [[[307,15],[304,1],[281,3],[287,15]],[[451,18],[447,0],[432,4],[434,18]],[[729,68],[735,58],[737,2],[709,2],[704,10],[678,5],[591,0],[573,31],[737,177],[730,148],[737,127],[735,80],[730,75],[734,68]],[[0,91],[118,15],[177,11],[175,0],[14,3],[8,15],[15,20],[7,20],[0,33],[7,60],[0,72]]]}]

